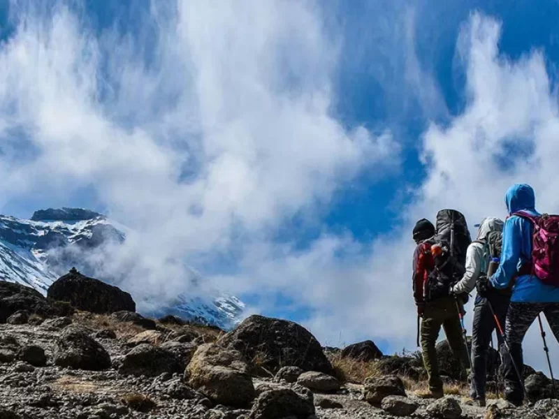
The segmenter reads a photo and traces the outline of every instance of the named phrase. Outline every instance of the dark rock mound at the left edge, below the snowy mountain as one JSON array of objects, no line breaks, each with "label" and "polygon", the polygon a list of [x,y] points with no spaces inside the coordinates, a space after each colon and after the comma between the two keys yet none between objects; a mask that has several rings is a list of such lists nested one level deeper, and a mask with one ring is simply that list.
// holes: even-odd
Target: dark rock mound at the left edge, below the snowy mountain
[{"label": "dark rock mound at the left edge, below the snowy mountain", "polygon": [[47,317],[55,315],[57,309],[33,288],[0,281],[0,323],[6,323],[17,311]]}]

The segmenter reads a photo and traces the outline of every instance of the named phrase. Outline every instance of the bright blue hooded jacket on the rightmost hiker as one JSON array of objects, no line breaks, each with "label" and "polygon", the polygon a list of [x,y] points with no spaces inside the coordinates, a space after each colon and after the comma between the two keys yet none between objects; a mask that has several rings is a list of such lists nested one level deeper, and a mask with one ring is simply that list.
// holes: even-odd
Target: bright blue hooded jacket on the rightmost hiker
[{"label": "bright blue hooded jacket on the rightmost hiker", "polygon": [[[526,184],[514,184],[504,197],[509,214],[517,211],[539,215],[535,210],[534,189]],[[532,255],[532,223],[520,216],[510,216],[502,232],[501,263],[490,278],[495,288],[507,288],[518,268],[529,262]],[[549,286],[530,275],[517,277],[511,302],[559,302],[559,287]]]}]

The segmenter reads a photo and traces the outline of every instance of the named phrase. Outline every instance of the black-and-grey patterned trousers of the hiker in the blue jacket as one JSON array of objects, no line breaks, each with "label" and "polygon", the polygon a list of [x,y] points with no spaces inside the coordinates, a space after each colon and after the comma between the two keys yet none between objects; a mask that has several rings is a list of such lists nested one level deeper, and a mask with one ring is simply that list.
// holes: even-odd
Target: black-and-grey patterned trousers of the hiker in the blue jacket
[{"label": "black-and-grey patterned trousers of the hiker in the blue jacket", "polygon": [[[511,302],[507,312],[507,344],[521,377],[524,374],[522,341],[530,325],[542,312],[559,342],[559,302]],[[504,357],[504,396],[511,402],[520,403],[524,399],[523,388],[511,357]]]}]

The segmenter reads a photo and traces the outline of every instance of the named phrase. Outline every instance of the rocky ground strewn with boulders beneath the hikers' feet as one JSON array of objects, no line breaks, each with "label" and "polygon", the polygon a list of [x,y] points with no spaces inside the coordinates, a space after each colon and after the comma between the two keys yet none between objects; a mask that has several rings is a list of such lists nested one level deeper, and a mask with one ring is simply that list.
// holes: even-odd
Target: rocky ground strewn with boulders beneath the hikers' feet
[{"label": "rocky ground strewn with boulders beneath the hikers' feet", "polygon": [[449,394],[421,400],[420,360],[385,357],[372,341],[340,351],[262,316],[225,333],[171,316],[53,310],[10,290],[0,289],[0,419],[559,418],[549,380],[533,371],[525,406],[474,406],[444,343]]}]

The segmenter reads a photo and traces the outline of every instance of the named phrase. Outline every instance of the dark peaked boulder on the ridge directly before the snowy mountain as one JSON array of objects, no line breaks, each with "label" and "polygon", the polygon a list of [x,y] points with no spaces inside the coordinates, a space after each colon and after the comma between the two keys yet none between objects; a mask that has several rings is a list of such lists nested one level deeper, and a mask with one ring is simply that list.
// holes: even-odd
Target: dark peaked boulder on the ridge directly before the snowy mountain
[{"label": "dark peaked boulder on the ridge directly before the snowy mountain", "polygon": [[76,309],[97,314],[115,311],[136,311],[136,303],[129,293],[99,279],[88,278],[72,268],[55,281],[47,293],[48,298],[69,302]]}]

